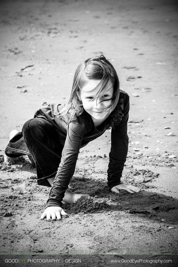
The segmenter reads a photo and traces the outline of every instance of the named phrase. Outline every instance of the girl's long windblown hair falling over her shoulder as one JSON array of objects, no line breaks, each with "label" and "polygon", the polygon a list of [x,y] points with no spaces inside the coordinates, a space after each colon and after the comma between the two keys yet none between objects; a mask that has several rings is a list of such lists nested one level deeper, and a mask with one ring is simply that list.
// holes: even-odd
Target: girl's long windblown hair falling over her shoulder
[{"label": "girl's long windblown hair falling over her shoulder", "polygon": [[119,79],[113,65],[104,57],[104,55],[88,58],[83,61],[76,69],[71,95],[68,104],[58,112],[57,116],[68,114],[68,123],[73,120],[75,116],[83,113],[82,101],[78,98],[77,92],[80,92],[86,85],[88,79],[100,80],[102,84],[100,92],[106,88],[108,81],[113,84],[113,97],[111,99],[110,107],[107,107],[107,112],[115,109],[119,100]]}]

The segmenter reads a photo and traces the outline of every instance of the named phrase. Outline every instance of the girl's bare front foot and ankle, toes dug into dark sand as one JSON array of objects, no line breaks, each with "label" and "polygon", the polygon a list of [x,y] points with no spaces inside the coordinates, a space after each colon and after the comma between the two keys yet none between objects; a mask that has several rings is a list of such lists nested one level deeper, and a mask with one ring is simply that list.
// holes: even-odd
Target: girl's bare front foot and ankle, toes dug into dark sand
[{"label": "girl's bare front foot and ankle, toes dug into dark sand", "polygon": [[[54,178],[55,178],[55,177],[52,177],[52,178],[47,179],[51,186],[52,186],[52,183],[54,182]],[[64,201],[65,203],[67,203],[67,204],[73,204],[73,203],[75,203],[79,198],[81,198],[82,196],[85,196],[85,197],[86,197],[86,200],[90,200],[90,198],[91,198],[89,195],[73,193],[73,192],[68,188],[68,189],[65,191],[65,195],[64,195],[63,201]]]}]

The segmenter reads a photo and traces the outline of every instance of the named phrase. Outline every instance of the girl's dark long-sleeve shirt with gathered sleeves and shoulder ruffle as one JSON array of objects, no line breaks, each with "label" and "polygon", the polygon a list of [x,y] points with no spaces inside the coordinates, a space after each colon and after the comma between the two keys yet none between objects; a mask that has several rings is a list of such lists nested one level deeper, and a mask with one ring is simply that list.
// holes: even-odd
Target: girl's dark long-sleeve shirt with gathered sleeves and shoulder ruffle
[{"label": "girl's dark long-sleeve shirt with gathered sleeves and shoulder ruffle", "polygon": [[111,128],[111,150],[108,165],[108,187],[121,184],[122,171],[128,152],[129,138],[127,136],[127,122],[129,117],[129,96],[120,91],[116,108],[108,118],[97,128],[92,117],[84,112],[68,123],[67,114],[56,116],[64,105],[50,104],[46,108],[39,109],[35,115],[49,120],[56,128],[62,143],[62,158],[49,193],[48,206],[62,206],[62,199],[72,178],[78,153],[81,147],[101,136]]}]

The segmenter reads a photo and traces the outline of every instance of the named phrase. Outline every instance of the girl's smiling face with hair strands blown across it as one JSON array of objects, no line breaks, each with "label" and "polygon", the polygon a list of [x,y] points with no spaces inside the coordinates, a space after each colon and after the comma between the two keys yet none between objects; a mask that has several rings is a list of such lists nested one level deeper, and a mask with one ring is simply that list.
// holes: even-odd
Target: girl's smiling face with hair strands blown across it
[{"label": "girl's smiling face with hair strands blown across it", "polygon": [[104,121],[108,117],[110,113],[109,107],[111,105],[111,98],[113,97],[114,92],[111,81],[108,81],[103,90],[101,90],[103,85],[102,83],[100,84],[100,82],[101,80],[88,79],[88,82],[82,88],[80,93],[77,92],[78,98],[82,101],[83,108],[91,115],[94,123]]}]

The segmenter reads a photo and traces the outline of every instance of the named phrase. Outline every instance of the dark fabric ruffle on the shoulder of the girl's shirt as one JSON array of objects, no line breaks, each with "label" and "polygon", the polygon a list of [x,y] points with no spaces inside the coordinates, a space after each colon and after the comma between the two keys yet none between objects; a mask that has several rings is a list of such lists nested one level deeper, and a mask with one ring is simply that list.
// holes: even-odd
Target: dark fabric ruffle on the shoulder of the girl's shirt
[{"label": "dark fabric ruffle on the shoulder of the girl's shirt", "polygon": [[121,98],[118,101],[118,105],[116,106],[116,108],[114,109],[114,113],[110,115],[110,120],[108,122],[108,124],[105,126],[106,130],[111,129],[111,128],[115,128],[122,120],[122,117],[124,116],[124,114],[122,113],[122,110],[124,109],[124,99]]}]

